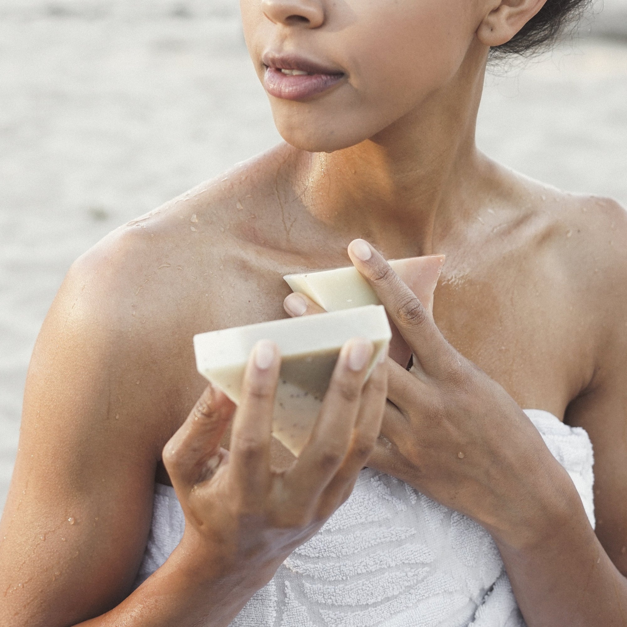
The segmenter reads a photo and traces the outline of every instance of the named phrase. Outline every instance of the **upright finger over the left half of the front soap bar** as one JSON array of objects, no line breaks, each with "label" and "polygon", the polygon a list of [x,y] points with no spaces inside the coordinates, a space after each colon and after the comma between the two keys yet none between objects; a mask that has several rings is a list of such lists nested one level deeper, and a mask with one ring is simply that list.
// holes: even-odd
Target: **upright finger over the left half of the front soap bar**
[{"label": "upright finger over the left half of the front soap bar", "polygon": [[246,493],[265,493],[270,480],[272,413],[281,359],[278,347],[260,340],[251,350],[231,430],[229,472]]}]

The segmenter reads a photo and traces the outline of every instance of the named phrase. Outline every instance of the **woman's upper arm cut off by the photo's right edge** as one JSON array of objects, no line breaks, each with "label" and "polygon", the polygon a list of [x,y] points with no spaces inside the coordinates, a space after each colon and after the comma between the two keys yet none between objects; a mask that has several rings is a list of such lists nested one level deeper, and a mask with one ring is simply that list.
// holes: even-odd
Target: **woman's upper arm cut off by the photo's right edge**
[{"label": "woman's upper arm cut off by the photo's right edge", "polygon": [[604,208],[587,303],[599,329],[594,376],[569,405],[566,422],[592,441],[596,535],[627,576],[627,213],[612,201]]}]

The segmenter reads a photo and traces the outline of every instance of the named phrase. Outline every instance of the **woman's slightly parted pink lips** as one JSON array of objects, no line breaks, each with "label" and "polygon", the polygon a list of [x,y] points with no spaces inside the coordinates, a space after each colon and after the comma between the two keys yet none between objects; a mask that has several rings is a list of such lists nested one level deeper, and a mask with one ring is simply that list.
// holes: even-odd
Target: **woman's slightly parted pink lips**
[{"label": "woman's slightly parted pink lips", "polygon": [[311,61],[265,55],[263,86],[271,96],[284,100],[305,100],[337,85],[345,76]]}]

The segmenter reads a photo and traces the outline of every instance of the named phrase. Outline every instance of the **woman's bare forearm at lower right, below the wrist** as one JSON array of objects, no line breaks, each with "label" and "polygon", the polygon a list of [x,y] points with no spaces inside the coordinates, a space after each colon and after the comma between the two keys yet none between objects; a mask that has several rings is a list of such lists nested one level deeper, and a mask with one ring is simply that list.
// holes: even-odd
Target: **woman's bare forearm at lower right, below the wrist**
[{"label": "woman's bare forearm at lower right, below the wrist", "polygon": [[[594,534],[577,492],[523,542],[495,536],[529,627],[624,627],[627,579]],[[523,534],[521,534],[523,537]]]}]

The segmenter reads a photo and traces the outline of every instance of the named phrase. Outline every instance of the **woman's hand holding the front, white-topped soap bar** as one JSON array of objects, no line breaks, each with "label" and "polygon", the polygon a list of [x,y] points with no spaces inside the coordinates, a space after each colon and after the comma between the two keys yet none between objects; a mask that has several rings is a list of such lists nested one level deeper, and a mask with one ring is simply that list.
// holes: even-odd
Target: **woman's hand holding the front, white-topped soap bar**
[{"label": "woman's hand holding the front, white-topped soap bar", "polygon": [[[204,391],[164,447],[163,461],[186,519],[179,546],[199,568],[207,564],[209,576],[253,573],[255,587],[263,586],[349,497],[386,403],[385,360],[364,384],[372,350],[372,342],[361,338],[342,347],[314,431],[282,472],[270,464],[277,345],[255,345],[238,408],[221,391]],[[219,443],[233,414],[226,451]]]}]

